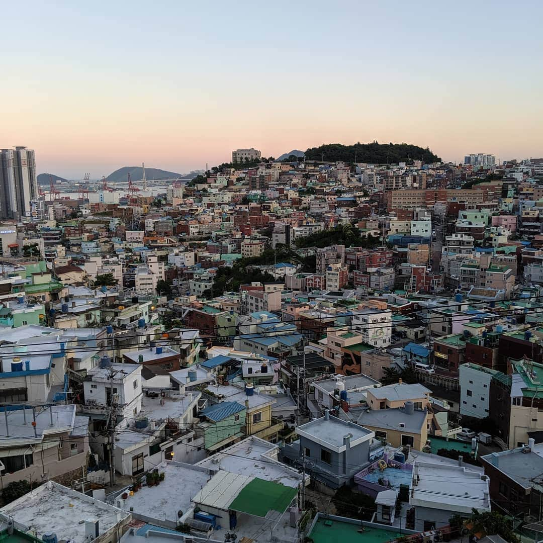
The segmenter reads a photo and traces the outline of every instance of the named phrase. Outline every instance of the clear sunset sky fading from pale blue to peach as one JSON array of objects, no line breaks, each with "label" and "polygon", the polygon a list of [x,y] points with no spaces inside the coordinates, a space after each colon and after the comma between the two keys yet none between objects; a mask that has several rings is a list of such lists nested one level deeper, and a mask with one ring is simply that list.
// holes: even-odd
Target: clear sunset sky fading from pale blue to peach
[{"label": "clear sunset sky fading from pale blue to peach", "polygon": [[255,147],[543,156],[543,2],[9,2],[0,147],[178,173]]}]

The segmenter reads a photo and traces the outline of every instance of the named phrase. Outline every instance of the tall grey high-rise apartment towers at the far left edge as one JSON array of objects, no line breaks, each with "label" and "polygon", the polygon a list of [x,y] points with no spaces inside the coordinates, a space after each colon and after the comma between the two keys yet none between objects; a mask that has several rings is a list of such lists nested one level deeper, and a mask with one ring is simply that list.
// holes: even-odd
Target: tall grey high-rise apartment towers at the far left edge
[{"label": "tall grey high-rise apartment towers at the far left edge", "polygon": [[31,216],[31,200],[36,200],[36,160],[26,147],[0,150],[0,215],[20,219]]}]

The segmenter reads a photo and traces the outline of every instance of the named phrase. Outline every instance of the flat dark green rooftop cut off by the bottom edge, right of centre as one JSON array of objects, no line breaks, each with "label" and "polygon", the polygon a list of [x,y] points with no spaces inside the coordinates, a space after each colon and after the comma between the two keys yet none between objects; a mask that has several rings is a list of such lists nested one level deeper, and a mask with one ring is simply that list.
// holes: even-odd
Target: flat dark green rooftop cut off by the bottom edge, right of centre
[{"label": "flat dark green rooftop cut off by the bottom edge, right of centre", "polygon": [[314,543],[386,543],[402,536],[401,533],[386,528],[365,526],[362,533],[358,532],[359,529],[359,521],[351,523],[319,518],[308,536]]}]

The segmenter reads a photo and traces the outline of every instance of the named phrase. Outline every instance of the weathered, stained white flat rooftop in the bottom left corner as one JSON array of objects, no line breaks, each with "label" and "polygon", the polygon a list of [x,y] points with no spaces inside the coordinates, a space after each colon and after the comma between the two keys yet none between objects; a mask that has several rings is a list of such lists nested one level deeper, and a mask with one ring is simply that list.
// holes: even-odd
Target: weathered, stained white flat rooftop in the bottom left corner
[{"label": "weathered, stained white flat rooftop in the bottom left corner", "polygon": [[0,513],[13,517],[15,522],[43,534],[54,532],[59,540],[85,543],[85,520],[98,520],[99,533],[104,534],[122,520],[127,513],[116,507],[48,481],[33,491],[4,506]]}]

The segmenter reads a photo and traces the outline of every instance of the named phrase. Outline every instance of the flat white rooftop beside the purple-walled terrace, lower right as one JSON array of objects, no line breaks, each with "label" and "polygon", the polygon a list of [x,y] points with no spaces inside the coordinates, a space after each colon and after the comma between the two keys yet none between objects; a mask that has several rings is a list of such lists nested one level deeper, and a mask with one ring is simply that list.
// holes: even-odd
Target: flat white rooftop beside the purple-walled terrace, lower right
[{"label": "flat white rooftop beside the purple-walled terrace, lower right", "polygon": [[[418,483],[414,485],[418,466]],[[413,466],[409,504],[471,514],[490,511],[489,478],[463,466],[424,463]]]}]

